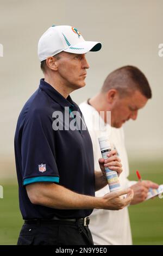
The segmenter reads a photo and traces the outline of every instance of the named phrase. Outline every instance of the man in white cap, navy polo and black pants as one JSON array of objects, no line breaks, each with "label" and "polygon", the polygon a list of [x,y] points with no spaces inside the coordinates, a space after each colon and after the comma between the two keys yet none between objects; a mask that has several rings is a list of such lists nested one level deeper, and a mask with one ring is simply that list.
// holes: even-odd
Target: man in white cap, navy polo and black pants
[{"label": "man in white cap, navy polo and black pants", "polygon": [[[106,185],[95,172],[93,150],[78,105],[70,93],[85,86],[85,53],[101,49],[71,26],[52,26],[40,38],[38,56],[45,76],[24,105],[15,133],[20,209],[25,220],[18,245],[92,245],[88,228],[93,208],[122,209],[132,190],[95,197]],[[81,124],[80,124],[81,120]],[[105,164],[122,172],[112,150]],[[128,194],[122,199],[121,194]]]}]

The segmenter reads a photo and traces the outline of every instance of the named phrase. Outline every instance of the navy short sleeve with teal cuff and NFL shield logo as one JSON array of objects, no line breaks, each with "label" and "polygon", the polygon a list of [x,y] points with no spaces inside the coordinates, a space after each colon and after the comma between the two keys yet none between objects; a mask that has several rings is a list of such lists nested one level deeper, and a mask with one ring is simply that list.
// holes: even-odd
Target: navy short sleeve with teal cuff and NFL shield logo
[{"label": "navy short sleeve with teal cuff and NFL shield logo", "polygon": [[59,182],[50,115],[39,110],[27,113],[22,131],[21,156],[23,185]]}]

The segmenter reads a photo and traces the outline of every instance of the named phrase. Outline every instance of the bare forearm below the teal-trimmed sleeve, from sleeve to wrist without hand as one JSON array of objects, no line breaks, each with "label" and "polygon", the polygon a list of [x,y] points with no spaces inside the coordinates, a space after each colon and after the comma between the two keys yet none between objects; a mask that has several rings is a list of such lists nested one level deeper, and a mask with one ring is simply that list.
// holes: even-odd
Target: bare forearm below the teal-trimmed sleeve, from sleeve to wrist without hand
[{"label": "bare forearm below the teal-trimmed sleeve, from sleeve to wrist without hand", "polygon": [[93,209],[102,207],[100,198],[78,194],[57,184],[31,184],[27,186],[27,193],[33,204],[55,209]]}]

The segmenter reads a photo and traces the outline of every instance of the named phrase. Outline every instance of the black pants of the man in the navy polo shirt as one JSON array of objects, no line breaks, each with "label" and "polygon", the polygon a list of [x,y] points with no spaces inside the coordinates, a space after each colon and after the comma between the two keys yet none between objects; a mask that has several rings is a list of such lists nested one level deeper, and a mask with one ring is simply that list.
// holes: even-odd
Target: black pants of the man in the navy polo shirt
[{"label": "black pants of the man in the navy polo shirt", "polygon": [[23,224],[17,245],[93,245],[87,226],[72,221]]}]

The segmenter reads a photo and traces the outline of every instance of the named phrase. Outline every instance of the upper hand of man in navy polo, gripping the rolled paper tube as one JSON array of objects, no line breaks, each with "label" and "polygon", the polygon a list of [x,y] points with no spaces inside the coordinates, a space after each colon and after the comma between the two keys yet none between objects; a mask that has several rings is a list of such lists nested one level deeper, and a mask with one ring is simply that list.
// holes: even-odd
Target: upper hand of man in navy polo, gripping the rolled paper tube
[{"label": "upper hand of man in navy polo, gripping the rolled paper tube", "polygon": [[108,167],[110,170],[115,170],[119,176],[122,173],[122,164],[121,159],[117,156],[117,151],[111,150],[107,156],[108,159],[106,160],[103,158],[98,160],[103,175],[106,177],[105,167]]}]

